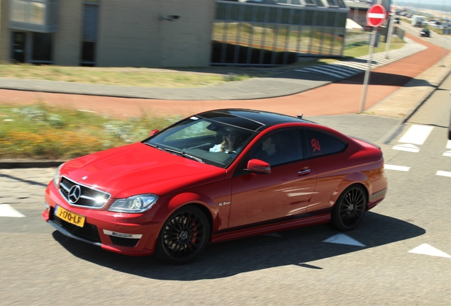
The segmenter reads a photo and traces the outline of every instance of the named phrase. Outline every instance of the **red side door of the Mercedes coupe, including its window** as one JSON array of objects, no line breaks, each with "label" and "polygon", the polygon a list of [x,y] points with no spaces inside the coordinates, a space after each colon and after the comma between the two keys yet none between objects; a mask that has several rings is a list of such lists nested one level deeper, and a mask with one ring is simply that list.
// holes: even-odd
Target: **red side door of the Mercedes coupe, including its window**
[{"label": "red side door of the Mercedes coupe, including its window", "polygon": [[[281,158],[271,164],[271,174],[243,171],[247,161],[259,156],[262,142],[277,137]],[[289,129],[262,137],[243,159],[232,179],[229,227],[289,220],[306,212],[315,191],[316,167],[305,160],[301,130]]]}]

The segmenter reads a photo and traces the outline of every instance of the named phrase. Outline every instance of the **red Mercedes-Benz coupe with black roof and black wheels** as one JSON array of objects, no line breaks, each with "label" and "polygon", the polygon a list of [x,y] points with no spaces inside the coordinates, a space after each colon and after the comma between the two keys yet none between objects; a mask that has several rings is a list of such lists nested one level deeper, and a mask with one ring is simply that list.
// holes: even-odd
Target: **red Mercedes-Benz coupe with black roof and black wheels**
[{"label": "red Mercedes-Benz coupe with black roof and black wheels", "polygon": [[194,259],[210,242],[330,222],[387,191],[382,150],[298,117],[222,109],[62,164],[43,217],[108,251]]}]

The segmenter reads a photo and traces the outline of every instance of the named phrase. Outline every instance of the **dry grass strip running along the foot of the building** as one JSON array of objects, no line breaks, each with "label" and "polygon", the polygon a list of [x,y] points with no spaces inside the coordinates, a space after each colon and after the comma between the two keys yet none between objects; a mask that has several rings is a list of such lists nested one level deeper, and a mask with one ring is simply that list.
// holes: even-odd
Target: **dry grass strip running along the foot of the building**
[{"label": "dry grass strip running along the foot of the building", "polygon": [[[404,42],[392,38],[390,50],[402,47]],[[380,43],[374,52],[383,52],[385,44]],[[243,81],[252,77],[266,77],[291,69],[291,66],[306,67],[326,64],[350,57],[368,54],[367,45],[357,45],[344,51],[344,59],[321,58],[296,63],[286,67],[205,67],[186,69],[149,69],[118,67],[62,67],[54,65],[0,64],[1,77],[12,79],[40,79],[50,81],[69,81],[86,84],[120,86],[142,86],[154,88],[194,88],[216,86],[229,81]]]}]

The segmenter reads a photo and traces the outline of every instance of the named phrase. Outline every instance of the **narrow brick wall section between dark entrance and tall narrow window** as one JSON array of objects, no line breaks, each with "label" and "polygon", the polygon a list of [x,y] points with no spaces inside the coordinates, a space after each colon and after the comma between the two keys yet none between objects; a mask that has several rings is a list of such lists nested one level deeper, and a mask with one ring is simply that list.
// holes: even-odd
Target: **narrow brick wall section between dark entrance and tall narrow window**
[{"label": "narrow brick wall section between dark entrance and tall narrow window", "polygon": [[54,35],[54,62],[79,66],[82,52],[83,1],[60,0],[58,30]]}]

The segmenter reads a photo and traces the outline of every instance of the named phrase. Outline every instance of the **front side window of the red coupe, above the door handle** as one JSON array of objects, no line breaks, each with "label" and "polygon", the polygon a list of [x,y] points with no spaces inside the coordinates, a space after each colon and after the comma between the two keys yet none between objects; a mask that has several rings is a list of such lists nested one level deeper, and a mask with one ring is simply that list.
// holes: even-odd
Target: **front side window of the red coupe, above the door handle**
[{"label": "front side window of the red coupe, above the door handle", "polygon": [[270,166],[286,164],[302,159],[301,137],[298,130],[284,130],[271,133],[257,142],[248,155],[250,159],[260,159]]}]

